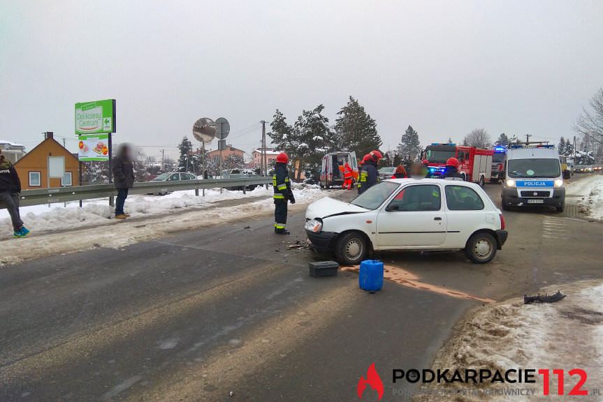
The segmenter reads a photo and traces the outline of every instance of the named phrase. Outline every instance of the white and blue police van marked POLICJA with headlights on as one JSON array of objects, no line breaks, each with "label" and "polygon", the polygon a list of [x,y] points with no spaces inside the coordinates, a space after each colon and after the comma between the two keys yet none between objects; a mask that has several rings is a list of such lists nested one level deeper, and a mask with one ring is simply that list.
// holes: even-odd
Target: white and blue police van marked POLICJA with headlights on
[{"label": "white and blue police van marked POLICJA with headlights on", "polygon": [[569,179],[569,171],[561,170],[559,152],[554,145],[511,144],[504,161],[502,209],[548,205],[562,212],[564,179]]}]

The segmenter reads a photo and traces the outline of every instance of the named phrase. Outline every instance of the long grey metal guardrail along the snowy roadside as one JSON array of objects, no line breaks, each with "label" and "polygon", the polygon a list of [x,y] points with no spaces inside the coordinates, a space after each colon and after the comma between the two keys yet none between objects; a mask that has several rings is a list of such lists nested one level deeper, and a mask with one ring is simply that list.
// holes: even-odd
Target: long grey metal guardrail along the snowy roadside
[{"label": "long grey metal guardrail along the snowy roadside", "polygon": [[[178,181],[145,181],[134,183],[129,194],[156,194],[168,193],[170,191],[199,190],[207,188],[231,188],[242,187],[243,192],[249,186],[262,186],[271,184],[272,177],[239,177],[235,179],[208,179],[208,180],[178,180]],[[71,186],[58,188],[36,188],[36,190],[24,190],[21,192],[20,206],[49,204],[51,202],[66,202],[78,200],[90,200],[92,198],[113,197],[117,195],[117,189],[113,184],[93,184],[91,186]],[[0,208],[4,204],[0,202]]]}]

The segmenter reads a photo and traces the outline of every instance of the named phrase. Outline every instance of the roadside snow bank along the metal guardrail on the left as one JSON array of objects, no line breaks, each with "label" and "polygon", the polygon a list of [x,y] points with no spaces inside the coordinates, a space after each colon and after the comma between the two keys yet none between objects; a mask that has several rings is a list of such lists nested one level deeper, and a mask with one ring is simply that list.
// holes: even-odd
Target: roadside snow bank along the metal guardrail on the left
[{"label": "roadside snow bank along the metal guardrail on the left", "polygon": [[[318,186],[297,187],[294,188],[293,193],[296,196],[296,204],[289,207],[291,211],[303,211],[307,204],[326,195]],[[235,207],[216,206],[219,200],[264,195],[266,198],[263,200],[247,202]],[[159,239],[170,234],[197,230],[218,223],[267,216],[274,211],[272,195],[272,188],[268,191],[265,188],[256,188],[247,195],[243,195],[242,192],[226,191],[221,195],[219,191],[208,194],[206,191],[205,201],[201,195],[196,197],[187,192],[173,193],[165,197],[132,196],[126,200],[126,211],[131,212],[132,218],[125,221],[107,218],[111,210],[108,205],[103,205],[106,200],[98,203],[92,201],[82,209],[77,207],[77,202],[75,206],[71,204],[68,204],[68,207],[53,206],[50,211],[48,207],[43,207],[47,208],[46,210],[32,207],[24,216],[26,225],[32,229],[31,237],[6,239],[5,235],[4,239],[0,238],[0,266],[97,247],[121,248],[138,241]],[[214,204],[210,204],[210,200]],[[182,208],[186,208],[182,214],[169,213]],[[133,219],[137,216],[139,219]],[[90,226],[90,223],[93,225]],[[36,233],[36,230],[41,231],[49,227],[68,230],[58,233]],[[4,232],[11,230],[8,218],[0,221],[0,230]],[[10,233],[12,234],[12,231]],[[266,235],[270,233],[271,231]]]}]

